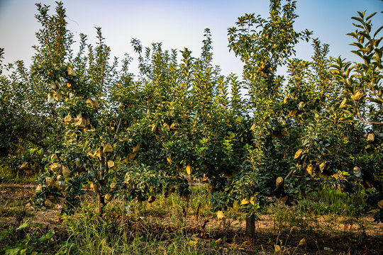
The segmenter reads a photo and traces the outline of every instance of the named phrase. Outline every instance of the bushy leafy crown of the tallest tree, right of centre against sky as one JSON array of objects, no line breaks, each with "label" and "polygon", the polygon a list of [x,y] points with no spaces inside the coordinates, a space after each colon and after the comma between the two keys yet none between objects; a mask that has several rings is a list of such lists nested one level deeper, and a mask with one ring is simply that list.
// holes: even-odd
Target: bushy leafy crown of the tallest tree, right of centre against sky
[{"label": "bushy leafy crown of the tallest tree, right of centre against sky", "polygon": [[[253,106],[263,99],[274,100],[282,86],[276,77],[277,67],[294,55],[294,45],[308,40],[307,30],[294,31],[295,3],[270,2],[270,16],[267,19],[254,13],[238,18],[237,28],[228,28],[229,48],[245,63],[244,78],[249,86],[250,102]],[[254,28],[253,28],[254,27]]]}]

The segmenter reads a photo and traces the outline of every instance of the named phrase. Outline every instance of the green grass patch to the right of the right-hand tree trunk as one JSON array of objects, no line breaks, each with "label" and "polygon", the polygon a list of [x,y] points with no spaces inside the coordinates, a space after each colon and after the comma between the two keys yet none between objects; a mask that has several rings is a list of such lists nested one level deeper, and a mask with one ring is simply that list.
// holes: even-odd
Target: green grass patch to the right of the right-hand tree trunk
[{"label": "green grass patch to the right of the right-hand tree trunk", "polygon": [[331,222],[343,224],[343,232],[353,224],[364,231],[365,222],[359,216],[364,211],[365,202],[365,191],[348,195],[325,187],[298,200],[296,206],[274,204],[265,212],[272,216],[273,231],[279,234],[308,235],[325,229],[334,231],[337,228]]}]

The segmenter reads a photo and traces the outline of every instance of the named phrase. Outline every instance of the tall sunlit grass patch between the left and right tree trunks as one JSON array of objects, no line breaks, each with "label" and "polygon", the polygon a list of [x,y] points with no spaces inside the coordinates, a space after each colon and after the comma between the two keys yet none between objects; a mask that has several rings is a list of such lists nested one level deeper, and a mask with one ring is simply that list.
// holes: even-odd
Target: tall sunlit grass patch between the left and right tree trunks
[{"label": "tall sunlit grass patch between the left and right tree trunks", "polygon": [[176,194],[156,197],[154,203],[115,200],[107,204],[102,218],[95,213],[96,203],[84,201],[76,215],[66,217],[70,238],[62,251],[67,254],[218,254],[218,251],[240,254],[216,244],[219,237],[202,239],[201,233],[209,229],[195,233],[200,226],[185,222],[185,210],[188,217],[199,218],[200,222],[216,217],[210,210],[210,193],[205,186],[193,186],[188,203],[179,200]]}]

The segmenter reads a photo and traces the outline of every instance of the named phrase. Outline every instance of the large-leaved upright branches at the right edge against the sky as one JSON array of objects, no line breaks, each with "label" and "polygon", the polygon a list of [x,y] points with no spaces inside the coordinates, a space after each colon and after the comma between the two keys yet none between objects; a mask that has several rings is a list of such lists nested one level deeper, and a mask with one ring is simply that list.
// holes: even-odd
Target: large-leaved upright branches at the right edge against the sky
[{"label": "large-leaved upright branches at the right edge against the sky", "polygon": [[352,52],[359,56],[362,62],[353,64],[348,62],[344,65],[338,58],[333,64],[337,71],[333,69],[333,73],[338,77],[340,84],[345,87],[345,98],[350,98],[350,101],[353,102],[353,106],[348,107],[348,111],[352,110],[362,123],[382,125],[383,119],[379,116],[379,111],[382,111],[383,107],[380,101],[382,93],[379,91],[383,89],[381,82],[383,47],[379,47],[382,38],[376,38],[382,30],[382,26],[372,36],[371,22],[376,13],[370,14],[367,18],[365,18],[365,12],[358,12],[358,14],[359,17],[353,17],[359,23],[354,24],[357,30],[348,35],[355,38],[356,42],[351,45],[357,47],[357,50]]}]

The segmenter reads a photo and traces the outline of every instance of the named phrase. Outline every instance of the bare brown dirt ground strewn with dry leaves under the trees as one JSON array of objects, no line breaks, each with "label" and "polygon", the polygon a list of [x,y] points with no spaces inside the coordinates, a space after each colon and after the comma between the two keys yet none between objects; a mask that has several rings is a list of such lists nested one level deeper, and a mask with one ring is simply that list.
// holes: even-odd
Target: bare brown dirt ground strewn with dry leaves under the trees
[{"label": "bare brown dirt ground strewn with dry leaves under the trees", "polygon": [[[17,227],[29,220],[42,229],[55,228],[61,232],[62,239],[67,238],[65,226],[58,208],[43,211],[33,210],[28,205],[33,196],[35,185],[1,184],[0,186],[0,233],[10,226]],[[162,217],[128,220],[131,227],[148,228],[153,238],[171,242],[172,232],[179,226],[174,225],[171,215]],[[145,224],[143,224],[145,221]],[[146,226],[146,227],[145,227]],[[290,229],[282,231],[281,222],[272,215],[260,215],[256,221],[255,240],[245,237],[243,220],[200,217],[184,217],[185,232],[190,244],[214,243],[215,250],[205,249],[202,254],[221,254],[223,251],[237,251],[238,254],[382,254],[383,224],[373,221],[372,215],[360,218],[344,219],[336,216],[320,216],[306,231]],[[282,230],[281,230],[282,229]]]}]

